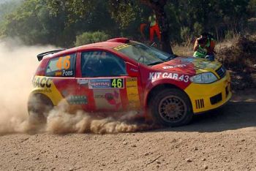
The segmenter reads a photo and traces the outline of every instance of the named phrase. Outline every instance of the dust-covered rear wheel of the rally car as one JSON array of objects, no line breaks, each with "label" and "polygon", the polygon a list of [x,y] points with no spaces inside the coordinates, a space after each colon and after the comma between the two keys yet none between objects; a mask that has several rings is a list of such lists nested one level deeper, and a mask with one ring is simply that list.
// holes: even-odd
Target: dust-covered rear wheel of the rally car
[{"label": "dust-covered rear wheel of the rally car", "polygon": [[46,123],[48,113],[53,109],[53,103],[43,94],[32,94],[29,96],[28,111],[33,121]]}]

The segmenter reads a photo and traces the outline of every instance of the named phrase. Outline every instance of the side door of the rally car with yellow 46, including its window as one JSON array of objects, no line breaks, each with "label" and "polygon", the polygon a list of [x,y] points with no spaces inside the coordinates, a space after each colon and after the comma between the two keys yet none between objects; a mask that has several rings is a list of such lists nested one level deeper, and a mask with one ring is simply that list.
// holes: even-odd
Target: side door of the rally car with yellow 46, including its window
[{"label": "side door of the rally car with yellow 46, including its window", "polygon": [[89,99],[87,110],[122,111],[140,107],[138,77],[135,77],[139,76],[138,69],[134,77],[129,75],[127,63],[121,57],[103,50],[84,51],[80,54],[80,68],[81,77],[77,79]]}]

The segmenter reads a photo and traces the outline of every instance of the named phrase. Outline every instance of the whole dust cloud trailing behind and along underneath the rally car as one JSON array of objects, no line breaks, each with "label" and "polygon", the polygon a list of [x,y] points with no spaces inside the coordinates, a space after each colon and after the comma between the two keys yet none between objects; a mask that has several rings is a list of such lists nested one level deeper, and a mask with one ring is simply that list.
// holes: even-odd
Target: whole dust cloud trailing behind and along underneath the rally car
[{"label": "whole dust cloud trailing behind and along underneath the rally car", "polygon": [[125,121],[136,113],[126,113],[126,118],[97,118],[83,111],[69,114],[63,104],[50,111],[46,124],[29,117],[27,102],[32,88],[32,76],[39,65],[37,54],[53,49],[56,47],[50,45],[25,46],[19,39],[0,40],[0,135],[44,132],[110,134],[152,128],[144,123]]}]

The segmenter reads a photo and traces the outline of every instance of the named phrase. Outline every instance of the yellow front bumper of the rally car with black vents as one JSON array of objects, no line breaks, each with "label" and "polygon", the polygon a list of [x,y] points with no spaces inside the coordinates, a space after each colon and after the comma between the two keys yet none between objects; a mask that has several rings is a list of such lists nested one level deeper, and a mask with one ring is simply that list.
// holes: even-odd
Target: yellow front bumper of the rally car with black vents
[{"label": "yellow front bumper of the rally car with black vents", "polygon": [[225,77],[210,84],[191,83],[185,92],[189,96],[195,114],[216,109],[227,103],[232,96],[230,74],[226,72]]}]

